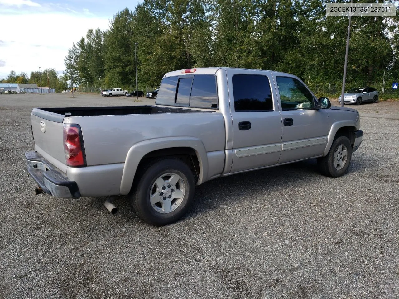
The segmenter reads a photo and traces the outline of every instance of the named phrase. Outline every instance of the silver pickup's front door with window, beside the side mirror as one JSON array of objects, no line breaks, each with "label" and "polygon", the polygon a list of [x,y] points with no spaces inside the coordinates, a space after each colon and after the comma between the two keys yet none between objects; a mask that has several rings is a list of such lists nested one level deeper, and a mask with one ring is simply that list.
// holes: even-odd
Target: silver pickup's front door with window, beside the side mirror
[{"label": "silver pickup's front door with window, beside the side mirror", "polygon": [[286,163],[322,155],[328,135],[328,112],[315,109],[315,98],[292,77],[275,77],[282,121],[281,155]]}]

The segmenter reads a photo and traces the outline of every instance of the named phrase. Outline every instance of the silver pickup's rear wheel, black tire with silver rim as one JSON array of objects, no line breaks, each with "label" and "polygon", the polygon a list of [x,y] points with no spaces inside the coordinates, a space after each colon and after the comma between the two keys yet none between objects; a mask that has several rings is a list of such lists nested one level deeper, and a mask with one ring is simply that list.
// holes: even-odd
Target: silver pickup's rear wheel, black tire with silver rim
[{"label": "silver pickup's rear wheel, black tire with silver rim", "polygon": [[130,203],[140,219],[163,226],[186,214],[195,189],[194,175],[186,163],[176,158],[162,159],[139,175]]}]

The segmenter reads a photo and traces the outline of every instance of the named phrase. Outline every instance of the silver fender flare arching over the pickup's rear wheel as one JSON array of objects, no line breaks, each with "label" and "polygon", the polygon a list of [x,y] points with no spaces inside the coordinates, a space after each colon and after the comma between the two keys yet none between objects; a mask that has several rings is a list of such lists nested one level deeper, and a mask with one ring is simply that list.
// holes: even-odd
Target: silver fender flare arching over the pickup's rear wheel
[{"label": "silver fender flare arching over the pickup's rear wheel", "polygon": [[199,175],[197,185],[203,183],[208,174],[208,159],[202,141],[194,137],[164,137],[145,140],[134,144],[126,155],[120,182],[120,194],[127,195],[132,188],[134,175],[141,159],[157,149],[166,148],[192,148],[196,152],[199,162]]}]

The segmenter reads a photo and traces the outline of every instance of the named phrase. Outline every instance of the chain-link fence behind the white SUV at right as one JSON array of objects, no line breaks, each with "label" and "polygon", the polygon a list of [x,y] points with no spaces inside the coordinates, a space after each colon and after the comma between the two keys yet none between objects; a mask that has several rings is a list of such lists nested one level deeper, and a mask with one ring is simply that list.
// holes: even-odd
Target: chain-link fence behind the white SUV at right
[{"label": "chain-link fence behind the white SUV at right", "polygon": [[[338,98],[342,92],[342,82],[316,82],[310,79],[308,84],[310,90],[316,94],[316,96],[326,96],[328,98]],[[391,81],[385,81],[383,87],[383,81],[347,81],[345,84],[345,92],[352,88],[364,88],[372,87],[378,90],[380,100],[399,99],[399,90],[392,89]]]}]

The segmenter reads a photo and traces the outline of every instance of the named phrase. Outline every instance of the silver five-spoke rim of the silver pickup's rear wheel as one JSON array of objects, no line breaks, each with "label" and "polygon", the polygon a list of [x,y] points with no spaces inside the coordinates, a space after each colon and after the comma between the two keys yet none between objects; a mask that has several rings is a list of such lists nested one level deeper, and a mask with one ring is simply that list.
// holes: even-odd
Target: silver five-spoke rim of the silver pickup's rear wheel
[{"label": "silver five-spoke rim of the silver pickup's rear wheel", "polygon": [[183,202],[186,185],[180,175],[164,173],[152,184],[150,203],[152,209],[167,214],[176,210]]}]

